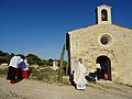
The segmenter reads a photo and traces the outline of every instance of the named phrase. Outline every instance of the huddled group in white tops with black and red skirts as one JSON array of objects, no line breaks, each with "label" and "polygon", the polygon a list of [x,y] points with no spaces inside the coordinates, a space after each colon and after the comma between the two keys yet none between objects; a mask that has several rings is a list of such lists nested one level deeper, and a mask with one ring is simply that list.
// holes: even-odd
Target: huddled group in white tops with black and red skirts
[{"label": "huddled group in white tops with black and red skirts", "polygon": [[24,55],[14,55],[9,64],[7,79],[10,84],[15,84],[16,80],[29,77],[28,57]]}]

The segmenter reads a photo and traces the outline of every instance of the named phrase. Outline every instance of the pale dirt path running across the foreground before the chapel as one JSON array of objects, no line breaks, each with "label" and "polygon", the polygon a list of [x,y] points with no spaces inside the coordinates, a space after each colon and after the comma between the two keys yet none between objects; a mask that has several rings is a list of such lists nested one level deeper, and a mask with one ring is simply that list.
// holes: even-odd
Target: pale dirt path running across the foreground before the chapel
[{"label": "pale dirt path running across the foreground before the chapel", "polygon": [[132,99],[132,88],[112,82],[88,84],[86,90],[23,79],[10,85],[0,77],[0,99]]}]

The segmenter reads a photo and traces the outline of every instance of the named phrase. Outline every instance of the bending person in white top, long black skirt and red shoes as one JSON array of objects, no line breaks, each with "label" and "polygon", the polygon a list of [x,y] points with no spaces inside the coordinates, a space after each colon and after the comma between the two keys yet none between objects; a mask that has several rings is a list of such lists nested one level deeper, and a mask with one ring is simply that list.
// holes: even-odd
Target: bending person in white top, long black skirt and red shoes
[{"label": "bending person in white top, long black skirt and red shoes", "polygon": [[15,55],[11,58],[8,69],[8,76],[7,79],[10,80],[10,84],[15,82],[15,75],[16,75],[16,68],[18,65],[21,63],[21,56]]}]

